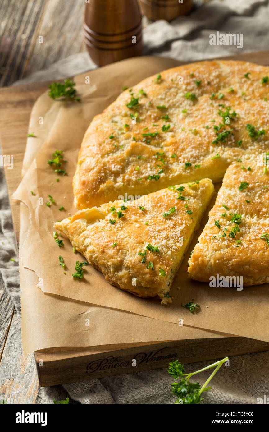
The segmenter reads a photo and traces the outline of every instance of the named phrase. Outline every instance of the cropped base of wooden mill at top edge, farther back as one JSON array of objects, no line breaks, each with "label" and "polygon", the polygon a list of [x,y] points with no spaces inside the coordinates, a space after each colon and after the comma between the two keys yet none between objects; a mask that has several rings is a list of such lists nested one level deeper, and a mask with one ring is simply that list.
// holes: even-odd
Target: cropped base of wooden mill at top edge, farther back
[{"label": "cropped base of wooden mill at top edge, farther back", "polygon": [[193,0],[139,0],[143,15],[149,19],[172,21],[180,15],[187,15],[193,8]]}]

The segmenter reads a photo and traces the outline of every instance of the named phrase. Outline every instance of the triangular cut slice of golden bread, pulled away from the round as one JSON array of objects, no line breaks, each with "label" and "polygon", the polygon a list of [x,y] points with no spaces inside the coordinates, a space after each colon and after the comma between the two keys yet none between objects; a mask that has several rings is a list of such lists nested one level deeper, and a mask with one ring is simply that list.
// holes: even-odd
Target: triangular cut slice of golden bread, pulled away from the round
[{"label": "triangular cut slice of golden bread, pulled away from the round", "polygon": [[163,298],[213,190],[206,178],[79,210],[54,227],[112,285],[139,297]]}]

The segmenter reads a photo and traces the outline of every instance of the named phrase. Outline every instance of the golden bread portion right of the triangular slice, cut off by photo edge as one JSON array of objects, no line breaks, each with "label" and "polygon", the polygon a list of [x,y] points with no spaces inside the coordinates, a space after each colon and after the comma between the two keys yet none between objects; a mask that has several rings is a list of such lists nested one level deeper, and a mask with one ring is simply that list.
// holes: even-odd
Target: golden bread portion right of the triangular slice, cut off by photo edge
[{"label": "golden bread portion right of the triangular slice, cut off by photo edge", "polygon": [[269,282],[269,172],[266,166],[257,166],[261,161],[252,156],[226,171],[209,221],[189,259],[192,279],[209,282],[210,276],[219,274],[243,276],[244,286]]}]

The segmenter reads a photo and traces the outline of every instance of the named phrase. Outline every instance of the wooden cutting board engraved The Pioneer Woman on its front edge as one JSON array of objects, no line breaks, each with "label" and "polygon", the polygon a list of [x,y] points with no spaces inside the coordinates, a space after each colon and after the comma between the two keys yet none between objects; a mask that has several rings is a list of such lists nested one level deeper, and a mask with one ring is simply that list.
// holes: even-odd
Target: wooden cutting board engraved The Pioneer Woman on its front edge
[{"label": "wooden cutting board engraved The Pioneer Woman on its front edge", "polygon": [[[269,51],[223,57],[245,60],[269,66]],[[183,64],[183,62],[182,62]],[[28,121],[35,100],[47,90],[49,83],[35,83],[0,89],[0,143],[2,155],[13,155],[13,169],[5,167],[9,197],[21,181]],[[13,224],[19,239],[19,203],[10,200]],[[54,348],[35,352],[36,364],[42,358],[44,366],[37,367],[41,386],[81,381],[102,376],[134,372],[130,358],[140,358],[135,371],[167,366],[171,355],[180,356],[185,363],[216,359],[269,350],[269,343],[245,337],[217,337],[209,339],[178,340],[160,343],[132,344],[105,349]],[[142,356],[142,357],[141,357]],[[102,367],[107,365],[107,367]],[[117,366],[115,366],[117,365]]]}]

